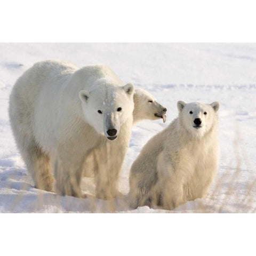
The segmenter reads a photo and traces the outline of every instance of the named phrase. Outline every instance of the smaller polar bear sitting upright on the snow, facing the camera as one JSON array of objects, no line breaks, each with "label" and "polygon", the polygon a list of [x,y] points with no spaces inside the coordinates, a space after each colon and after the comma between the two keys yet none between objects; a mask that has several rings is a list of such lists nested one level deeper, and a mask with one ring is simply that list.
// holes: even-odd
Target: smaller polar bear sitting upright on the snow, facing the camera
[{"label": "smaller polar bear sitting upright on the snow, facing the camera", "polygon": [[173,209],[205,197],[218,170],[219,102],[177,105],[179,117],[147,142],[132,165],[132,207]]}]

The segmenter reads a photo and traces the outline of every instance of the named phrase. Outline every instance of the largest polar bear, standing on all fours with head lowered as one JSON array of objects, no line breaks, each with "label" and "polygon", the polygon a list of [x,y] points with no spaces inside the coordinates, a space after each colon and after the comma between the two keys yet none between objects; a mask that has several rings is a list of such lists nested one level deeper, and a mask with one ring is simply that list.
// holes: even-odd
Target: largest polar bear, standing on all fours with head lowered
[{"label": "largest polar bear, standing on all fours with head lowered", "polygon": [[[124,85],[105,65],[78,69],[69,62],[42,61],[28,69],[10,95],[9,115],[17,146],[35,186],[82,197],[82,166],[103,143],[111,157],[111,195],[129,147],[134,86]],[[116,161],[118,159],[118,161]],[[104,182],[104,179],[101,179]],[[97,185],[101,191],[106,183]],[[104,193],[104,191],[102,192]]]}]

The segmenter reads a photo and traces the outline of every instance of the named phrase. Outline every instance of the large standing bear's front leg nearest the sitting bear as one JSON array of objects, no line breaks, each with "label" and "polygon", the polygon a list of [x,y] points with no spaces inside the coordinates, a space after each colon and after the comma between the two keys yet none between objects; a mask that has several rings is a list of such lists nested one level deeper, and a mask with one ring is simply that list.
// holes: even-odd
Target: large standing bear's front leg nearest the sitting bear
[{"label": "large standing bear's front leg nearest the sitting bear", "polygon": [[125,155],[129,149],[132,118],[122,125],[119,136],[114,141],[103,139],[101,146],[94,150],[98,163],[95,170],[95,194],[102,199],[118,196],[118,178],[122,170]]}]

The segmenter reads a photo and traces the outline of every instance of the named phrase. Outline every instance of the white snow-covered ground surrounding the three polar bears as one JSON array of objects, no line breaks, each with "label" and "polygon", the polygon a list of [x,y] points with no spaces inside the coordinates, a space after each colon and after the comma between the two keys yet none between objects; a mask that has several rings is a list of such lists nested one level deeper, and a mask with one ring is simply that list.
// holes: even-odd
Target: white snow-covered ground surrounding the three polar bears
[{"label": "white snow-covered ground surrounding the three polar bears", "polygon": [[[0,44],[1,212],[256,212],[256,44]],[[16,79],[35,62],[62,59],[82,67],[105,63],[124,82],[148,90],[167,108],[167,122],[143,121],[133,128],[119,182],[129,191],[130,167],[141,148],[166,127],[178,100],[220,101],[219,173],[205,199],[174,211],[130,209],[125,198],[63,197],[33,187],[12,136],[7,106]],[[82,187],[93,194],[93,181]]]}]

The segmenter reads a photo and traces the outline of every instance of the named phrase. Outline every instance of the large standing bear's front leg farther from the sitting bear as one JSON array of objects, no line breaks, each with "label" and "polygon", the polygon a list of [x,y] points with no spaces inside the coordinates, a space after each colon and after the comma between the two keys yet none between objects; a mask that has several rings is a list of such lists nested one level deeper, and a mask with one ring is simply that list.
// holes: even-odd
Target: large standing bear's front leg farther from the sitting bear
[{"label": "large standing bear's front leg farther from the sitting bear", "polygon": [[97,145],[99,136],[83,122],[76,122],[76,126],[75,131],[63,131],[66,140],[57,145],[54,175],[61,195],[83,197],[80,185],[84,159]]}]

